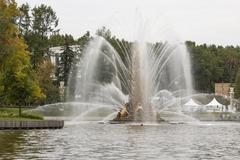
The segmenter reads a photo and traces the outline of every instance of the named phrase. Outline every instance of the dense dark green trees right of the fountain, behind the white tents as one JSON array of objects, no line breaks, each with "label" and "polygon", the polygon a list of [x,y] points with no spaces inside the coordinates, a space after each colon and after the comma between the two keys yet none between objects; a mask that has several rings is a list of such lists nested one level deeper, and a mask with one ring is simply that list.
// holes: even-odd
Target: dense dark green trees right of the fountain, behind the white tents
[{"label": "dense dark green trees right of the fountain, behind the white tents", "polygon": [[192,60],[192,74],[195,89],[201,92],[213,92],[214,83],[233,83],[240,65],[238,47],[196,45],[187,41]]}]

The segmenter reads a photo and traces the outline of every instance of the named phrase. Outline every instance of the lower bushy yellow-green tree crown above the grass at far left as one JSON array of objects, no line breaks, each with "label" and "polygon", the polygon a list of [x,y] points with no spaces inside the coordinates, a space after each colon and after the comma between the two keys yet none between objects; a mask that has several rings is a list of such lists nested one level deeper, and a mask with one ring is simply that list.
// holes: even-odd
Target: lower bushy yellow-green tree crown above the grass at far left
[{"label": "lower bushy yellow-green tree crown above the grass at far left", "polygon": [[3,64],[0,80],[4,86],[3,102],[19,106],[39,103],[43,100],[44,94],[38,86],[28,52],[21,46],[23,40],[15,41],[15,45],[11,46],[16,47],[15,53],[10,55]]}]

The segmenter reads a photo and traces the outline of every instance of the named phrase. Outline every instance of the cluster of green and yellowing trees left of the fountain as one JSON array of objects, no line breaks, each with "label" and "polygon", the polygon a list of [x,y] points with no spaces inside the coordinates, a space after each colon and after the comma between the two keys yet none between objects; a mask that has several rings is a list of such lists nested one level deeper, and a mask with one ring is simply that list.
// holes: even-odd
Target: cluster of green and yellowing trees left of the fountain
[{"label": "cluster of green and yellowing trees left of the fountain", "polygon": [[[0,104],[39,105],[60,101],[59,82],[67,79],[80,51],[90,39],[59,33],[56,12],[41,4],[31,8],[14,0],[0,0]],[[64,46],[61,62],[53,66],[49,48]],[[57,67],[57,69],[55,69]],[[54,80],[54,70],[57,70]]]}]

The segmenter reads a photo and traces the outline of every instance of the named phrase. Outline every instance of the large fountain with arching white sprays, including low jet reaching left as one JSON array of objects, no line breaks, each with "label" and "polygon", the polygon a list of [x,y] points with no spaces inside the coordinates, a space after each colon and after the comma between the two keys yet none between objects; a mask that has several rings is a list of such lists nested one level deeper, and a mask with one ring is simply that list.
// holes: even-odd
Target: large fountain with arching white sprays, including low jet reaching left
[{"label": "large fountain with arching white sprays, including low jet reaching left", "polygon": [[33,111],[73,122],[186,118],[181,107],[192,94],[192,77],[185,44],[156,22],[136,26],[129,41],[92,38],[70,72],[66,92],[71,98]]}]

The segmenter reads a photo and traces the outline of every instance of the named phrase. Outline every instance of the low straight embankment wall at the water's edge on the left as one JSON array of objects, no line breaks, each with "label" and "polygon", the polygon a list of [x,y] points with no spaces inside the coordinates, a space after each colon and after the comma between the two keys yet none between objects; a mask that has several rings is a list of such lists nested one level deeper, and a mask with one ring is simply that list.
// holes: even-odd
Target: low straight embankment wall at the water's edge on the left
[{"label": "low straight embankment wall at the water's edge on the left", "polygon": [[0,130],[3,129],[61,129],[61,120],[1,120]]}]

